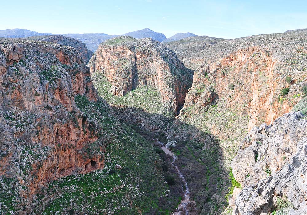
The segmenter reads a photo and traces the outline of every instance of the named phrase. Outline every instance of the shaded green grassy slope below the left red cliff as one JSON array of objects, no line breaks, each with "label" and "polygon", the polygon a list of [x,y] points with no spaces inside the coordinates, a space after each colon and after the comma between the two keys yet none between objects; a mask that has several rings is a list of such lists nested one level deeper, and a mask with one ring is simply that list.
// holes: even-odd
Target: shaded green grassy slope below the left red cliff
[{"label": "shaded green grassy slope below the left red cliff", "polygon": [[165,197],[168,186],[153,146],[121,123],[106,103],[92,103],[84,96],[77,96],[76,103],[89,121],[100,126],[95,144],[107,140],[105,167],[54,181],[44,191],[53,197],[42,214],[169,214],[173,208],[165,204],[171,201]]}]

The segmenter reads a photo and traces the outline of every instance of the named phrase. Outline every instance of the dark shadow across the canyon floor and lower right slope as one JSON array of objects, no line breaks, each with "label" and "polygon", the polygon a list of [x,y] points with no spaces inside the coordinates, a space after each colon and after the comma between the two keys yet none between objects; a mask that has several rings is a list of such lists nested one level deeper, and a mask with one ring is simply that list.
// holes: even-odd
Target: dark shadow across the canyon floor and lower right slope
[{"label": "dark shadow across the canyon floor and lower right slope", "polygon": [[[181,189],[181,186],[178,186],[179,178],[175,175],[176,171],[170,164],[170,157],[166,156],[160,149],[158,142],[166,144],[168,141],[176,141],[175,146],[169,148],[177,156],[176,164],[188,183],[191,200],[196,203],[196,209],[192,206],[189,208],[190,215],[217,214],[223,211],[225,206],[228,205],[225,195],[228,193],[228,187],[231,183],[228,178],[228,171],[222,165],[223,149],[220,147],[220,141],[214,135],[200,131],[194,125],[175,119],[176,124],[180,124],[181,129],[185,128],[187,131],[185,138],[178,138],[162,132],[161,129],[155,130],[154,128],[158,125],[146,126],[144,120],[149,119],[149,123],[152,123],[153,119],[158,119],[156,122],[161,122],[163,128],[166,125],[169,128],[173,120],[161,114],[150,114],[134,107],[114,108],[114,110],[122,122],[153,143],[157,153],[164,162],[166,161],[163,167],[165,177],[167,178],[168,174],[171,174],[176,181],[173,185],[170,185],[170,188],[173,189],[171,192],[173,195],[182,193],[178,191],[178,189]],[[131,114],[132,112],[141,114],[142,119],[131,120],[130,117],[126,117],[127,114],[122,116],[123,113]],[[191,138],[191,132],[198,133],[205,141],[194,141]]]}]

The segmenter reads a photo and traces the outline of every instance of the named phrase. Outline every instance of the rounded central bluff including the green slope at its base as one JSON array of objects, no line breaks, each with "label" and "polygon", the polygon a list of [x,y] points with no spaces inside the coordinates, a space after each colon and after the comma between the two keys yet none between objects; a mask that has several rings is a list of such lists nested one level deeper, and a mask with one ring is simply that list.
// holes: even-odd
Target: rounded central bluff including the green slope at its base
[{"label": "rounded central bluff including the green slope at its base", "polygon": [[192,72],[175,53],[150,38],[105,41],[88,66],[99,95],[119,116],[150,131],[167,129],[192,84]]}]

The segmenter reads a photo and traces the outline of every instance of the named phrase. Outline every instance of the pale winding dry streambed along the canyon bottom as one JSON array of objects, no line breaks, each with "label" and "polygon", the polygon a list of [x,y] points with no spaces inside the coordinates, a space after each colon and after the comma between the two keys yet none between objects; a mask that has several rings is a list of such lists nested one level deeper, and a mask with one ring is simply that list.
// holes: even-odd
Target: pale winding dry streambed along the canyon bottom
[{"label": "pale winding dry streambed along the canyon bottom", "polygon": [[177,156],[174,155],[173,152],[169,151],[168,148],[165,148],[163,143],[161,143],[161,149],[165,152],[165,154],[169,154],[170,156],[173,157],[173,161],[172,161],[172,165],[175,167],[177,174],[179,176],[179,178],[181,179],[181,184],[182,184],[182,190],[183,190],[183,194],[184,197],[181,200],[181,203],[178,205],[176,212],[173,213],[173,215],[180,215],[180,209],[182,208],[185,211],[185,214],[188,215],[188,209],[187,209],[187,205],[190,202],[190,190],[188,187],[188,183],[185,180],[185,177],[183,176],[183,174],[181,173],[181,171],[179,170],[178,166],[175,163],[175,160],[177,159]]}]

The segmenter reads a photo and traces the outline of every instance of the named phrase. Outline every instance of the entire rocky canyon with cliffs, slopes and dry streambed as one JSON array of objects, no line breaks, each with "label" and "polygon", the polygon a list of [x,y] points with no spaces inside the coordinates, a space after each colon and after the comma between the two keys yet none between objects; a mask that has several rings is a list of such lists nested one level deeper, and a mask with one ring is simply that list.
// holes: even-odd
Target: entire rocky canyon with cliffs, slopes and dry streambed
[{"label": "entire rocky canyon with cliffs, slopes and dry streambed", "polygon": [[304,214],[307,30],[0,39],[3,214]]}]

